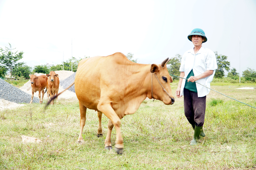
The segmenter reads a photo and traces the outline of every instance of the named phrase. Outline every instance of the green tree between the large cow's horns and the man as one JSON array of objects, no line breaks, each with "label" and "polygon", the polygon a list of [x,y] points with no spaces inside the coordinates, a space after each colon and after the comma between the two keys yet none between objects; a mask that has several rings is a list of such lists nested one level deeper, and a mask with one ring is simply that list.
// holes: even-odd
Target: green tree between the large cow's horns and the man
[{"label": "green tree between the large cow's horns and the man", "polygon": [[[176,54],[175,57],[171,58],[171,60],[167,63],[168,72],[171,75],[180,76],[180,64],[181,64],[182,56],[180,54]],[[173,80],[178,80],[179,78],[173,77]]]}]

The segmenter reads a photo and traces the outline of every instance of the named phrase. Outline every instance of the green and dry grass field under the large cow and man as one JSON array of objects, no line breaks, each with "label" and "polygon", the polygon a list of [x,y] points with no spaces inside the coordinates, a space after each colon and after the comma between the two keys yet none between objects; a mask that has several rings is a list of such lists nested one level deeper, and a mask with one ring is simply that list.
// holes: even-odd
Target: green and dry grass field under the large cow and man
[{"label": "green and dry grass field under the large cow and man", "polygon": [[[171,84],[175,93],[178,83]],[[256,107],[256,84],[213,83],[211,88]],[[45,103],[46,101],[44,101]],[[98,116],[87,110],[84,143],[78,144],[80,112],[77,100],[26,104],[0,112],[0,169],[256,169],[256,109],[211,91],[207,95],[204,132],[190,146],[193,129],[184,116],[183,98],[166,106],[145,100],[121,122],[124,153],[104,149],[108,118],[102,116],[104,135],[97,137]],[[114,147],[116,131],[112,131]],[[22,143],[21,136],[43,142]]]}]

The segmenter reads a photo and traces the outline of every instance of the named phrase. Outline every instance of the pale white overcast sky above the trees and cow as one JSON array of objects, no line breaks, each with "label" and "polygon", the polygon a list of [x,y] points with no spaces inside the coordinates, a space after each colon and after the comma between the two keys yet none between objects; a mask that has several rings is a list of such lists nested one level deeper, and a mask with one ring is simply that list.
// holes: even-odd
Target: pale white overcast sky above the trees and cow
[{"label": "pale white overcast sky above the trees and cow", "polygon": [[193,48],[187,35],[201,28],[203,46],[238,72],[240,37],[241,73],[256,70],[256,0],[0,0],[0,23],[0,47],[31,67],[115,52],[160,64]]}]

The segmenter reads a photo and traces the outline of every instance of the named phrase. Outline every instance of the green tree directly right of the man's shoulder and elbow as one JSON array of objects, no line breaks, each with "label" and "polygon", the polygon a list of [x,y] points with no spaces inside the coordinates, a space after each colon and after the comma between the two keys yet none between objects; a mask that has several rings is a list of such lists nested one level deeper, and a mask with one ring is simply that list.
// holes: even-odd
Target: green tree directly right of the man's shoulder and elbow
[{"label": "green tree directly right of the man's shoulder and elbow", "polygon": [[214,52],[217,60],[217,66],[218,69],[215,72],[214,77],[215,78],[222,78],[224,77],[224,69],[228,72],[230,69],[230,62],[227,61],[227,56],[226,55],[221,55],[218,54],[217,51]]}]

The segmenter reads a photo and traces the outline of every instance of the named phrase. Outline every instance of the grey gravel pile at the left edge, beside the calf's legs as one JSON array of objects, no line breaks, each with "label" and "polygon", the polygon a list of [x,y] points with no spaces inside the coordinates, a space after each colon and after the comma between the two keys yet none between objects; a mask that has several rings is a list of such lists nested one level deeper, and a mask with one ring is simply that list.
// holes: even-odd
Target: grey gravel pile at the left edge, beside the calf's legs
[{"label": "grey gravel pile at the left edge, beside the calf's legs", "polygon": [[[15,103],[29,103],[31,95],[0,79],[0,98]],[[39,103],[39,98],[34,96],[33,103]]]}]

